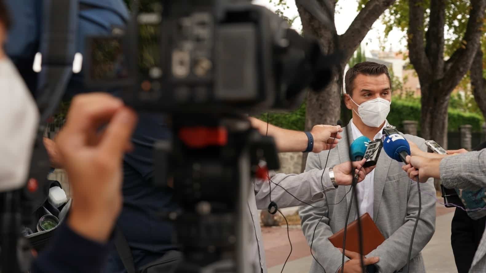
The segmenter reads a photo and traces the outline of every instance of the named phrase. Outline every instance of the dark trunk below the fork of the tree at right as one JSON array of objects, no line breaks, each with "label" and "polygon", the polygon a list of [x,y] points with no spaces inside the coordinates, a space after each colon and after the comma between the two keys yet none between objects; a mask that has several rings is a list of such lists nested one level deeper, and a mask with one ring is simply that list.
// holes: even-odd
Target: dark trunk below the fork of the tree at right
[{"label": "dark trunk below the fork of the tree at right", "polygon": [[447,123],[448,105],[450,95],[434,94],[436,86],[423,86],[422,112],[420,117],[421,137],[426,140],[435,140],[444,149],[447,149]]}]

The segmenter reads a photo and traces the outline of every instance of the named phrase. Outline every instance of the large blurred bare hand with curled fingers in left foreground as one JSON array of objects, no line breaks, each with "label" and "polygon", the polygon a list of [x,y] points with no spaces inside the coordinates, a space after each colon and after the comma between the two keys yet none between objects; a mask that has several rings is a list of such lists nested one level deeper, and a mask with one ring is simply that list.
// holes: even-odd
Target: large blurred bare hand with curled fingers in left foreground
[{"label": "large blurred bare hand with curled fingers in left foreground", "polygon": [[88,239],[106,241],[120,213],[122,158],[136,121],[111,95],[78,95],[56,138],[73,195],[68,224]]}]

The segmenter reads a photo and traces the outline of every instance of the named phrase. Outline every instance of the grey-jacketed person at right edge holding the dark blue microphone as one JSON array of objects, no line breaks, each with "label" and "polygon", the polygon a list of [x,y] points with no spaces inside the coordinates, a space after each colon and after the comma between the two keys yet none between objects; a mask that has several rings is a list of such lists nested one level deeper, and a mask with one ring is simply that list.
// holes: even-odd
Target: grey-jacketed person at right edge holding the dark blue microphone
[{"label": "grey-jacketed person at right edge holding the dark blue microphone", "polygon": [[[416,180],[418,175],[422,183],[429,177],[440,178],[446,188],[486,188],[486,149],[454,155],[419,154],[412,153],[412,157],[407,156],[407,162],[410,164],[403,166],[410,178]],[[480,272],[486,272],[485,233],[469,268],[469,273]]]}]

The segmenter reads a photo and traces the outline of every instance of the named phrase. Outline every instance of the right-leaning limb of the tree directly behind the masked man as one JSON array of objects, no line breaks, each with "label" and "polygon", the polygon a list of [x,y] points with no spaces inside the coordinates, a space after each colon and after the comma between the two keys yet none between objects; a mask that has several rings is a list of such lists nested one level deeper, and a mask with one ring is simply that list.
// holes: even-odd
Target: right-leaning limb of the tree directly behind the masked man
[{"label": "right-leaning limb of the tree directly behind the masked man", "polygon": [[348,60],[356,51],[373,23],[395,0],[370,0],[354,18],[346,33],[339,36],[339,47],[343,57]]}]

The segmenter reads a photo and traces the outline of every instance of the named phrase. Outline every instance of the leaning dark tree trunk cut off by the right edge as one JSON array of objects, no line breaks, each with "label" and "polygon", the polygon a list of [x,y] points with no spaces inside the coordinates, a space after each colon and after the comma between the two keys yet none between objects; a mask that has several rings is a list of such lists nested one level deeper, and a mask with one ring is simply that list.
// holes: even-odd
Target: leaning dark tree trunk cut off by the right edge
[{"label": "leaning dark tree trunk cut off by the right edge", "polygon": [[483,78],[483,52],[478,49],[470,68],[472,94],[486,117],[486,79]]}]

